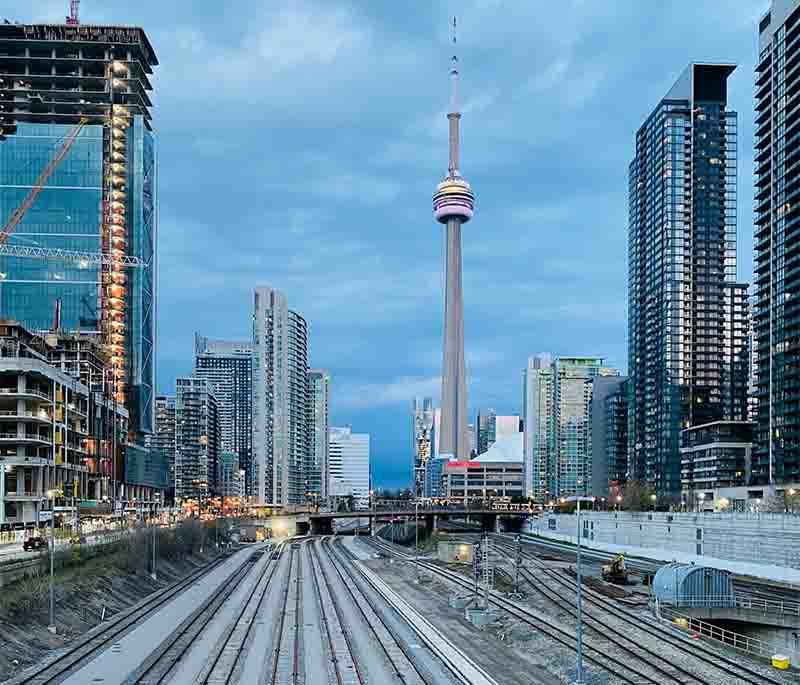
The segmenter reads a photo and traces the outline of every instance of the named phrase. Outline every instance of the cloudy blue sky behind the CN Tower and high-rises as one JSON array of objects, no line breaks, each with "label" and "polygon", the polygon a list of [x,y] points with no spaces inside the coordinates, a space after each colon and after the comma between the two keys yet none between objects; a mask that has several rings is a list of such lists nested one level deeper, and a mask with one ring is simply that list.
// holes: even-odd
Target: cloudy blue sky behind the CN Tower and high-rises
[{"label": "cloudy blue sky behind the CN Tower and high-rises", "polygon": [[[63,21],[67,0],[0,0]],[[752,271],[752,78],[766,0],[83,0],[143,26],[161,66],[158,386],[193,333],[246,339],[251,290],[284,290],[333,375],[332,418],[410,477],[409,403],[439,394],[448,17],[459,15],[471,412],[518,412],[528,355],[626,366],[627,166],[691,60],[737,63],[739,277]]]}]

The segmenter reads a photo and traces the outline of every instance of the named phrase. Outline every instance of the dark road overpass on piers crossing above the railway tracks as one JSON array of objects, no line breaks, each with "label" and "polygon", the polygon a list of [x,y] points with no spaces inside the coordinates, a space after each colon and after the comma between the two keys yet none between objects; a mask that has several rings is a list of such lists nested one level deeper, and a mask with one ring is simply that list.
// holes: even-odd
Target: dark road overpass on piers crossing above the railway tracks
[{"label": "dark road overpass on piers crossing above the railway tracks", "polygon": [[331,535],[333,521],[336,519],[367,518],[370,532],[376,523],[390,523],[401,520],[420,520],[429,531],[436,531],[439,522],[448,519],[471,520],[480,523],[486,532],[520,530],[523,521],[538,512],[527,507],[517,509],[471,508],[471,507],[413,507],[400,509],[363,509],[357,511],[293,511],[275,514],[268,518],[280,518],[293,522],[299,535]]}]

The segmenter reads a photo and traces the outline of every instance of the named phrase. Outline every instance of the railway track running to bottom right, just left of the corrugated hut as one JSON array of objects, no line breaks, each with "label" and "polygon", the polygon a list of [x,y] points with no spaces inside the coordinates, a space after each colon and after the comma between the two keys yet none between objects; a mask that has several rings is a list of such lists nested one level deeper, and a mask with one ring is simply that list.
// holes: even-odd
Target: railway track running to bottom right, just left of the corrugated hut
[{"label": "railway track running to bottom right, just left of the corrugated hut", "polygon": [[[512,555],[515,550],[512,545],[495,539],[495,546],[503,554],[513,558]],[[530,554],[523,552],[523,558],[533,561],[536,564],[537,571],[541,573],[537,577],[523,567],[520,569],[522,577],[528,581],[529,585],[537,593],[577,620],[577,609],[574,604],[574,584]],[[559,589],[554,589],[553,586],[543,582],[545,578],[553,581]],[[602,597],[591,589],[587,588],[584,591],[583,598],[584,625],[593,631],[598,639],[610,639],[610,642],[623,652],[633,658],[646,661],[649,667],[663,673],[664,677],[668,678],[664,682],[717,683],[725,682],[724,679],[731,677],[736,679],[733,682],[741,683],[742,685],[764,685],[766,683],[783,685],[785,682],[775,679],[763,671],[721,655],[705,645],[689,642],[687,639],[670,631],[653,626],[634,612],[618,607],[612,600]],[[601,612],[605,615],[601,616]],[[608,619],[609,615],[614,617],[613,620]],[[620,623],[623,625],[620,625]],[[632,633],[631,629],[638,631],[638,633]],[[642,644],[642,639],[648,639],[646,636],[657,639],[662,648],[656,650]],[[664,649],[667,646],[677,651],[677,654],[670,655],[667,653]],[[720,681],[718,676],[710,677],[708,674],[699,674],[685,666],[676,665],[676,659],[680,657],[690,657],[702,662],[707,668],[715,669],[722,674],[723,680]]]}]

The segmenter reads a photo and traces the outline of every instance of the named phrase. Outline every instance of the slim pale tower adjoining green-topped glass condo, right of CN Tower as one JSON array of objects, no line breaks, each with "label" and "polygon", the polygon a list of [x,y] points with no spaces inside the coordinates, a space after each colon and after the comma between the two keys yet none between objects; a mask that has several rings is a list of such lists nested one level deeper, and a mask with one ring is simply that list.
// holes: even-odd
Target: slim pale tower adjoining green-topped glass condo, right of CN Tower
[{"label": "slim pale tower adjoining green-topped glass condo, right of CN Tower", "polygon": [[526,497],[537,502],[555,497],[550,492],[548,474],[550,463],[553,417],[553,369],[549,354],[538,354],[528,358],[522,372],[522,411],[525,436],[523,439],[523,485]]}]

